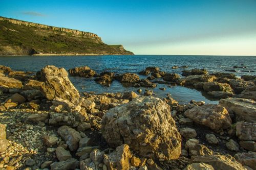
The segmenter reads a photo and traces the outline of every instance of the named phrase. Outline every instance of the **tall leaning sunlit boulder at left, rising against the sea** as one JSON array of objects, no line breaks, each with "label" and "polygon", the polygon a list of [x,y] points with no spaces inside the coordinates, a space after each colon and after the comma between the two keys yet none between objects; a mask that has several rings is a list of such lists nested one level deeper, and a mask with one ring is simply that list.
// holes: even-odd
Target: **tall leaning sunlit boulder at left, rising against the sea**
[{"label": "tall leaning sunlit boulder at left, rising against the sea", "polygon": [[72,102],[80,97],[79,92],[70,82],[65,68],[48,65],[41,69],[41,76],[45,80],[42,92],[48,100],[58,97]]}]

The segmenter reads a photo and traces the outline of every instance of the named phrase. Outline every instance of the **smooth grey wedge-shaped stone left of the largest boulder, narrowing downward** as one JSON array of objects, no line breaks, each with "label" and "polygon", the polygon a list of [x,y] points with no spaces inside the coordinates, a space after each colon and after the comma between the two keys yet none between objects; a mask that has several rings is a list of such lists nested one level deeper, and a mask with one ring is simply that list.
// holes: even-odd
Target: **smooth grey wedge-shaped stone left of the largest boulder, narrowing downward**
[{"label": "smooth grey wedge-shaped stone left of the largest boulder, narrowing downward", "polygon": [[76,130],[68,126],[62,126],[58,129],[58,134],[68,144],[70,151],[76,151],[79,145],[81,135]]}]

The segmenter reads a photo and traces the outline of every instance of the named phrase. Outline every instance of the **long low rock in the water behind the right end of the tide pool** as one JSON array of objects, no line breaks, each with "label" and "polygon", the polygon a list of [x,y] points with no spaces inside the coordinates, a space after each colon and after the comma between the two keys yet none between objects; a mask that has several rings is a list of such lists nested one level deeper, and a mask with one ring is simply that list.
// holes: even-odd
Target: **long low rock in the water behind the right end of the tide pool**
[{"label": "long low rock in the water behind the right end of the tide pool", "polygon": [[210,75],[193,75],[181,78],[176,81],[177,84],[182,86],[193,86],[195,83],[199,82],[212,82],[216,79],[215,76]]}]

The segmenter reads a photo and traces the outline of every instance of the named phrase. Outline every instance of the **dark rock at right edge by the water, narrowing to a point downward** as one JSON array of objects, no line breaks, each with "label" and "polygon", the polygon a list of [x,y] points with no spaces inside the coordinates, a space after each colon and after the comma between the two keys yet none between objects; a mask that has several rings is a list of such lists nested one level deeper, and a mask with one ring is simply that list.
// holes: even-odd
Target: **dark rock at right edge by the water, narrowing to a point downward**
[{"label": "dark rock at right edge by the water, narrowing to a point downward", "polygon": [[242,79],[232,79],[229,81],[230,86],[233,88],[236,94],[240,94],[248,86],[254,86],[253,82],[247,82]]}]

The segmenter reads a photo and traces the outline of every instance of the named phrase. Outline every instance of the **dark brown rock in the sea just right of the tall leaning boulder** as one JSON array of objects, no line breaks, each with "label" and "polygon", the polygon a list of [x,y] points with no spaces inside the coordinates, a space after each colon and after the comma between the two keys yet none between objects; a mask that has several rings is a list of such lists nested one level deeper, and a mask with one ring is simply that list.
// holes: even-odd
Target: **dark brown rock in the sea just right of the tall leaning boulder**
[{"label": "dark brown rock in the sea just right of the tall leaning boulder", "polygon": [[96,72],[88,66],[82,66],[69,69],[69,74],[71,76],[80,76],[88,78],[93,77],[96,74]]}]

